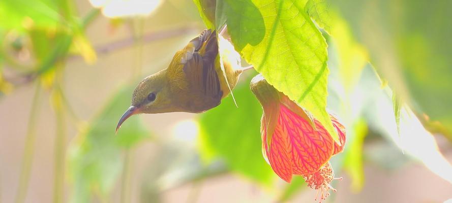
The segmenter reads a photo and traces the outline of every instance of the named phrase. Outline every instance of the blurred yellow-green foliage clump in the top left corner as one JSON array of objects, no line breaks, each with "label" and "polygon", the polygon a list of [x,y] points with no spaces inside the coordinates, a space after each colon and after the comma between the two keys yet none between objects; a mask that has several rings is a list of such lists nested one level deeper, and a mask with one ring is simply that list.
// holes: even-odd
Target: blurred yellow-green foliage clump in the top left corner
[{"label": "blurred yellow-green foliage clump in the top left corner", "polygon": [[[21,72],[29,76],[52,71],[71,48],[87,62],[93,62],[96,53],[86,40],[83,28],[98,12],[93,10],[80,19],[73,7],[73,2],[68,0],[1,1],[0,18],[8,20],[0,22],[0,38],[6,42],[2,43],[0,54],[12,67],[21,67]],[[27,41],[31,44],[25,47]],[[22,49],[31,51],[27,60],[34,62],[32,66],[13,54],[14,50]]]}]

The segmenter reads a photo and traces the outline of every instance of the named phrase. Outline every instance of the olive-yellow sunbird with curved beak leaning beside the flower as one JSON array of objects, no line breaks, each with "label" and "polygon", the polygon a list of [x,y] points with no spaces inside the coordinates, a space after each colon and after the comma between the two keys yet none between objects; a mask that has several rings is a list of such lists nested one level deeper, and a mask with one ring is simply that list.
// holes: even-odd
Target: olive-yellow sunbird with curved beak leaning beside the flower
[{"label": "olive-yellow sunbird with curved beak leaning beside the flower", "polygon": [[174,54],[166,69],[138,84],[132,105],[119,119],[116,131],[134,114],[202,113],[212,109],[235,87],[243,70],[233,45],[221,35],[217,38],[215,30],[205,29]]}]

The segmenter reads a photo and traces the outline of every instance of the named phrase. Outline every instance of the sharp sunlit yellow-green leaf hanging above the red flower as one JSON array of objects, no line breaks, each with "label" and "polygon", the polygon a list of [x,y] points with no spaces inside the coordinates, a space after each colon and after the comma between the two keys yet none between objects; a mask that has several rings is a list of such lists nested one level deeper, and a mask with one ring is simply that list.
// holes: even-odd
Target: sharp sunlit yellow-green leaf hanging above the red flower
[{"label": "sharp sunlit yellow-green leaf hanging above the red flower", "polygon": [[235,49],[265,79],[319,120],[335,140],[326,107],[326,42],[303,1],[227,1]]}]

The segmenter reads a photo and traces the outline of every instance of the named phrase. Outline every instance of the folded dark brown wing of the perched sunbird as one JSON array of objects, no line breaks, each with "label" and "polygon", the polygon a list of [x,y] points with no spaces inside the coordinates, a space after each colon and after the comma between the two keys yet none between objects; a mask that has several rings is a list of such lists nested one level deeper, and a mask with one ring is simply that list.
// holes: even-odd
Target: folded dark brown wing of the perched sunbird
[{"label": "folded dark brown wing of the perched sunbird", "polygon": [[193,48],[193,52],[185,54],[191,57],[182,59],[185,62],[183,71],[192,88],[200,93],[214,98],[221,99],[223,92],[220,87],[220,80],[215,70],[215,62],[218,56],[218,41],[216,32],[204,30],[201,35],[190,41],[185,51]]}]

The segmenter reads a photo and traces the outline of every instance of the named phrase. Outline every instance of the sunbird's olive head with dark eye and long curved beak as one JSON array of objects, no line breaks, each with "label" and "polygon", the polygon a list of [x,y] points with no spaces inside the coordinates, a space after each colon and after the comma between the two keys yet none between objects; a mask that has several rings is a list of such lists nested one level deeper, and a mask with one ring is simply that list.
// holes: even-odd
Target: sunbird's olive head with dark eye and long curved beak
[{"label": "sunbird's olive head with dark eye and long curved beak", "polygon": [[119,119],[116,131],[132,115],[174,111],[172,100],[166,69],[144,78],[133,91],[132,105]]}]

